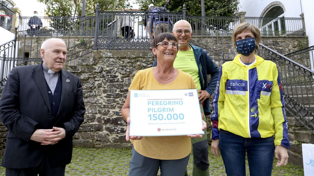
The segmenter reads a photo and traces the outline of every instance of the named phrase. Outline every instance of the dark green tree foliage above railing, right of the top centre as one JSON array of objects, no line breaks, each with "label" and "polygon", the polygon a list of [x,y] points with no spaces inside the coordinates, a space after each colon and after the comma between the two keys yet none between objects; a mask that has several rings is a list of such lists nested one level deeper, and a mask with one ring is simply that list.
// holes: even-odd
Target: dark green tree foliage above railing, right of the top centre
[{"label": "dark green tree foliage above railing, right of the top centre", "polygon": [[[148,5],[153,3],[155,6],[165,6],[165,0],[136,0],[140,10],[146,11]],[[183,4],[186,5],[187,14],[201,16],[201,0],[171,0],[166,7],[170,12],[182,12]],[[205,16],[235,16],[238,9],[239,0],[204,0]]]}]

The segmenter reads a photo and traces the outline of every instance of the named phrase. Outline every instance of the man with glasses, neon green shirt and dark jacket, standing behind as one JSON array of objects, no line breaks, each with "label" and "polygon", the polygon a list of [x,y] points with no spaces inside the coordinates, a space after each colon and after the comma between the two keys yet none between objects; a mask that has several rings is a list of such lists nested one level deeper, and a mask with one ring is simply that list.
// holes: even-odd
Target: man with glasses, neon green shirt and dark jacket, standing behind
[{"label": "man with glasses, neon green shirt and dark jacket, standing behind", "polygon": [[[172,34],[174,34],[179,41],[179,51],[173,66],[189,73],[192,76],[199,93],[198,98],[200,104],[202,105],[200,107],[204,115],[204,121],[206,122],[205,115],[210,114],[210,103],[208,98],[213,94],[216,87],[219,68],[205,50],[189,44],[193,34],[192,27],[189,22],[186,20],[177,21],[173,26]],[[156,65],[157,60],[154,61],[153,66]],[[211,77],[209,82],[207,81],[207,75],[210,75]],[[191,138],[194,155],[193,176],[209,175],[206,129],[204,132],[205,135],[203,135],[201,139]],[[187,175],[187,172],[185,175]]]}]

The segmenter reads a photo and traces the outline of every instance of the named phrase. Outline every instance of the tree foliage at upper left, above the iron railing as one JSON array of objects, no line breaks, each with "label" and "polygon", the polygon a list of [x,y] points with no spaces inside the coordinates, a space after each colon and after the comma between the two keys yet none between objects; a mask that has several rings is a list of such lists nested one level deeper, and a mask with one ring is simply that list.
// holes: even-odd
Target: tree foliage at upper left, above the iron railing
[{"label": "tree foliage at upper left, above the iron railing", "polygon": [[[37,0],[46,4],[48,16],[81,16],[82,0]],[[96,4],[99,3],[100,11],[122,10],[131,8],[127,0],[86,0],[85,15],[95,12]]]}]

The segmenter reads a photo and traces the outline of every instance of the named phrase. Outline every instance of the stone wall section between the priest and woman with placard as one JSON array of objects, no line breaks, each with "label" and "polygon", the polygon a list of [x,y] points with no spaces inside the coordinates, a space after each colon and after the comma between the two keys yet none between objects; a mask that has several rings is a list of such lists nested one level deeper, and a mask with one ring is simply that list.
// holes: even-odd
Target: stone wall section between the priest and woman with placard
[{"label": "stone wall section between the priest and woman with placard", "polygon": [[122,148],[130,146],[125,141],[126,123],[121,108],[130,85],[129,75],[141,62],[143,68],[151,67],[151,51],[96,51],[94,58],[81,59],[76,66],[65,69],[82,79],[85,122],[74,135],[74,145],[95,148]]}]

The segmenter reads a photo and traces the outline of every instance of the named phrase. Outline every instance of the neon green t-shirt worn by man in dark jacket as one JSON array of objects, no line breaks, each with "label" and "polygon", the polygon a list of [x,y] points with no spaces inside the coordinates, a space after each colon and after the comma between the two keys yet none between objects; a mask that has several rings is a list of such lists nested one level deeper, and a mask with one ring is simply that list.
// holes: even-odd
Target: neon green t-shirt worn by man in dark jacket
[{"label": "neon green t-shirt worn by man in dark jacket", "polygon": [[178,51],[177,57],[173,66],[184,71],[192,76],[196,89],[201,90],[201,83],[199,82],[198,66],[194,57],[193,49],[187,51]]}]

